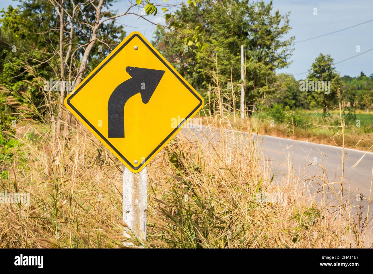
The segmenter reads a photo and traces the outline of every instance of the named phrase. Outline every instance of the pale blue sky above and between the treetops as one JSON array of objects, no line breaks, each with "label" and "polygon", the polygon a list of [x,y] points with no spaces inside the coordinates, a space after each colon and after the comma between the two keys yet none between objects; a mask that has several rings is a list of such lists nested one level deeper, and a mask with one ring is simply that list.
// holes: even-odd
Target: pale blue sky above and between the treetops
[{"label": "pale blue sky above and between the treetops", "polygon": [[[269,0],[264,0],[269,2]],[[15,6],[18,1],[0,0],[0,9],[9,4]],[[163,2],[154,0],[154,2]],[[168,3],[180,3],[180,0],[169,0]],[[118,1],[113,9],[124,11],[128,0]],[[290,26],[292,27],[286,37],[295,36],[295,42],[327,34],[340,29],[348,28],[373,19],[372,0],[273,0],[273,7],[281,14],[290,13]],[[313,15],[314,9],[317,15]],[[162,23],[162,12],[156,17],[147,16],[149,20]],[[125,25],[127,33],[139,31],[151,40],[155,26],[139,19],[137,16],[126,16],[118,20]],[[285,37],[285,38],[286,38]],[[360,46],[360,53],[373,48],[373,21],[354,28],[326,35],[324,37],[299,42],[294,45],[292,64],[281,72],[295,74],[296,79],[304,78],[311,63],[320,54],[330,54],[335,62],[354,57],[350,60],[336,64],[338,72],[343,75],[358,76],[360,71],[366,75],[373,73],[373,50],[357,56],[356,47]],[[356,56],[356,57],[355,57]]]}]

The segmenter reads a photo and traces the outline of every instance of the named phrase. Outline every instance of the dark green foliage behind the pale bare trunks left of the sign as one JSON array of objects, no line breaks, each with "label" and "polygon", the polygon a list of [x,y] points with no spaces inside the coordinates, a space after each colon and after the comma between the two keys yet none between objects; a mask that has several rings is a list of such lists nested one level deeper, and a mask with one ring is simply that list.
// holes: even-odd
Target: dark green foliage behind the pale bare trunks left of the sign
[{"label": "dark green foliage behind the pale bare trunks left of the sign", "polygon": [[[82,5],[85,1],[75,1]],[[113,0],[104,2],[109,8]],[[64,2],[65,22],[72,14],[71,1]],[[76,10],[75,10],[76,12]],[[72,49],[75,56],[70,58],[71,66],[66,65],[66,77],[75,81],[80,60],[85,47],[90,41],[92,29],[86,24],[78,24],[85,20],[94,22],[95,9],[82,5],[76,12],[72,33]],[[107,10],[102,18],[114,15]],[[7,128],[12,120],[32,118],[45,122],[47,115],[54,115],[59,91],[43,89],[44,81],[60,79],[60,60],[56,56],[59,48],[59,12],[47,0],[20,1],[18,7],[9,6],[0,11],[0,128]],[[69,22],[67,25],[71,24]],[[70,37],[70,28],[65,26],[64,37]],[[107,21],[100,26],[98,39],[88,56],[87,70],[92,70],[125,37],[122,25]],[[67,38],[65,45],[68,44]],[[100,48],[99,48],[100,47]],[[68,51],[66,47],[65,51]],[[48,102],[50,101],[50,102]]]}]

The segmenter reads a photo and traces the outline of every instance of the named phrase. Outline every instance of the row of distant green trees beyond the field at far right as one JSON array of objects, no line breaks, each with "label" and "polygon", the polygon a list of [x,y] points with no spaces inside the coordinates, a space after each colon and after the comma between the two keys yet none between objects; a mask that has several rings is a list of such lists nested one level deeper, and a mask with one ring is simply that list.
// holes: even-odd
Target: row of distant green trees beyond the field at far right
[{"label": "row of distant green trees beyond the field at far right", "polygon": [[[319,82],[330,81],[330,90],[318,90]],[[305,84],[308,82],[308,85]],[[266,94],[264,104],[268,107],[273,103],[289,106],[292,109],[315,109],[323,112],[338,105],[338,86],[340,87],[341,103],[353,109],[372,110],[373,79],[363,72],[358,77],[339,77],[333,67],[333,59],[329,55],[320,54],[312,64],[310,73],[303,81],[296,81],[292,75],[279,73],[276,81],[270,85],[271,92]]]}]

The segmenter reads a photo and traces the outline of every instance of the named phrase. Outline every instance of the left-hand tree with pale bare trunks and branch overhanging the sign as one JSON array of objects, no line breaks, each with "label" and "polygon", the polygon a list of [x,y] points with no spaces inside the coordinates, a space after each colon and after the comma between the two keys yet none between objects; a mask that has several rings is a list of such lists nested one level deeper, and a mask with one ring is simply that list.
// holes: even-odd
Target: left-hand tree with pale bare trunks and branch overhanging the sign
[{"label": "left-hand tree with pale bare trunks and branch overhanging the sign", "polygon": [[[40,119],[44,112],[49,112],[54,136],[62,135],[63,125],[66,135],[70,124],[71,116],[63,107],[69,92],[65,83],[79,85],[87,71],[97,66],[125,37],[123,26],[115,20],[131,15],[149,21],[145,16],[156,15],[158,7],[162,7],[164,16],[172,18],[168,11],[171,5],[163,1],[154,4],[150,0],[128,0],[122,13],[110,11],[115,1],[21,0],[17,8],[10,6],[2,11],[0,34],[4,60],[0,61],[0,86],[12,92],[13,99],[21,97],[20,91],[38,97],[28,102],[40,101],[40,105],[35,105],[38,111],[44,108]],[[193,5],[195,1],[198,0],[189,3]],[[138,12],[139,7],[146,15]],[[13,46],[17,48],[14,52]],[[50,79],[62,83],[62,88],[44,90],[44,82]]]}]

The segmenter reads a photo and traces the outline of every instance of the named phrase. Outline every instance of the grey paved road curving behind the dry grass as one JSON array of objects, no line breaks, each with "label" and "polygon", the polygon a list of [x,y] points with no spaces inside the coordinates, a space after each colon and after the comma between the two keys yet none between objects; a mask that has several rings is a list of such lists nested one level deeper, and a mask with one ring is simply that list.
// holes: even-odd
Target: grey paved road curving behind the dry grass
[{"label": "grey paved road curving behind the dry grass", "polygon": [[[201,131],[203,131],[203,134]],[[200,126],[194,129],[185,128],[182,132],[184,134],[193,134],[197,136],[198,139],[208,136],[210,141],[211,139],[216,140],[220,138],[220,133],[217,133],[218,130],[206,126]],[[249,140],[249,136],[246,136],[248,138],[247,140]],[[283,176],[288,175],[288,163],[293,163],[295,175],[299,176],[298,182],[308,182],[313,194],[320,190],[320,186],[316,182],[322,185],[323,178],[326,179],[327,183],[338,182],[332,186],[335,186],[336,191],[340,191],[342,148],[295,140],[293,147],[292,139],[256,134],[254,134],[253,137],[257,138],[258,148],[263,157],[266,158],[271,173],[275,174],[275,179],[278,180],[278,182],[281,181]],[[292,155],[293,152],[294,154]],[[363,158],[360,160],[361,157]],[[353,167],[359,160],[360,162]],[[364,197],[369,199],[372,168],[373,153],[345,148],[344,200],[350,198],[350,204],[355,207],[353,210],[355,217],[360,193],[363,193]],[[306,181],[312,177],[316,182]],[[336,205],[338,202],[336,201],[335,195],[332,194],[332,191],[326,187],[325,192],[328,193],[326,200],[329,202],[329,205]],[[345,195],[347,193],[350,193],[349,197]],[[340,193],[338,193],[338,196],[340,196]],[[373,193],[371,196],[373,199]],[[315,198],[316,201],[321,201],[321,194],[317,194]],[[363,205],[362,216],[364,219],[366,217],[368,201],[364,198],[361,199],[361,205]],[[369,208],[369,216],[369,219],[372,219],[373,204],[371,204]],[[373,234],[371,235],[373,236]]]}]

